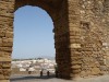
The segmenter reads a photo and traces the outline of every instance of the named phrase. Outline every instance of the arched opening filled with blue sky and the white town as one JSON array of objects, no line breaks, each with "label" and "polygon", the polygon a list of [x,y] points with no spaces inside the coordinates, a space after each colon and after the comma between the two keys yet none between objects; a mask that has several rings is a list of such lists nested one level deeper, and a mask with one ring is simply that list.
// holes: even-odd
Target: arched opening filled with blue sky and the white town
[{"label": "arched opening filled with blue sky and the white town", "polygon": [[[13,75],[28,74],[28,70],[34,68],[32,74],[39,77],[45,65],[47,67],[45,70],[52,68],[53,73],[51,74],[55,74],[56,51],[52,28],[52,20],[46,11],[38,7],[25,5],[15,11],[12,52],[12,57],[15,58],[15,61],[12,61]],[[29,67],[31,65],[33,67]]]}]

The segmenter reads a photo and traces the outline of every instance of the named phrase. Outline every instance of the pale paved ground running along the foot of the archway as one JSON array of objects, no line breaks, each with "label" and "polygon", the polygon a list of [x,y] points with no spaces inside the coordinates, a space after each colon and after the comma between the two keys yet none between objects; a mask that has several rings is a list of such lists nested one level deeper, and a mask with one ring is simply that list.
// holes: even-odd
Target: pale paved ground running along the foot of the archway
[{"label": "pale paved ground running along the foot of the archway", "polygon": [[109,75],[78,79],[78,80],[62,80],[55,77],[38,77],[38,75],[12,75],[11,82],[109,82]]}]

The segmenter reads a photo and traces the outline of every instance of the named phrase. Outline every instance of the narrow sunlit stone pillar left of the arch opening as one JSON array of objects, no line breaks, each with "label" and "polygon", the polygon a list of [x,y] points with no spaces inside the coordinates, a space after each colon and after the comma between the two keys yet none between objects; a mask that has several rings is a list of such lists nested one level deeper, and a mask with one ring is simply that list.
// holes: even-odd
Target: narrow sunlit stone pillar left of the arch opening
[{"label": "narrow sunlit stone pillar left of the arch opening", "polygon": [[8,82],[11,72],[13,8],[12,0],[0,0],[0,80],[4,82]]}]

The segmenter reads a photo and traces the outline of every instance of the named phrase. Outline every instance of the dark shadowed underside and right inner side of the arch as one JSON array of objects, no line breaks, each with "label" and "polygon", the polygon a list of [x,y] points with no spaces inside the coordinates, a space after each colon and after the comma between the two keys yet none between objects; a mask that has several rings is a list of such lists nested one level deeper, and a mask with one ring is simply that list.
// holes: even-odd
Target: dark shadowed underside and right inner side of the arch
[{"label": "dark shadowed underside and right inner side of the arch", "polygon": [[[60,5],[61,4],[61,5]],[[68,12],[66,8],[63,8],[63,5],[66,5],[66,1],[45,1],[45,0],[38,0],[38,1],[31,1],[31,0],[25,0],[25,1],[20,1],[15,0],[15,5],[14,10],[17,10],[19,8],[23,5],[36,5],[39,7],[48,12],[48,14],[51,16],[53,21],[53,32],[55,32],[55,47],[56,47],[56,60],[59,66],[59,73],[60,77],[63,78],[64,75],[69,78],[69,73],[62,72],[64,67],[68,65],[64,63],[65,59],[64,56],[61,56],[62,54],[68,55],[69,49],[68,49],[68,43],[69,42],[69,27],[68,27],[68,15],[64,16],[64,14]],[[64,17],[63,17],[64,16]],[[60,39],[61,38],[61,39]],[[65,38],[65,39],[64,39]],[[65,50],[64,50],[65,48]],[[69,67],[65,67],[69,68]],[[62,70],[63,69],[63,70]],[[63,75],[63,73],[65,73]],[[65,78],[64,77],[64,78]]]}]

